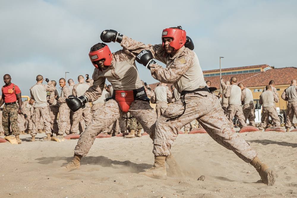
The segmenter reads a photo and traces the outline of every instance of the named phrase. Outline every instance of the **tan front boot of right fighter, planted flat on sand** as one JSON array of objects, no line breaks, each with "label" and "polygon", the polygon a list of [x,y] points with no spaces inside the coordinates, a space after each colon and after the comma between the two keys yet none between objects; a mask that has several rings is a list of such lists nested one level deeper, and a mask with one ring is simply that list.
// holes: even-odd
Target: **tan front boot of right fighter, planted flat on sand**
[{"label": "tan front boot of right fighter, planted flat on sand", "polygon": [[139,174],[146,175],[154,179],[167,180],[165,159],[166,159],[166,156],[155,156],[155,163],[153,167],[151,167],[146,172],[140,172]]}]

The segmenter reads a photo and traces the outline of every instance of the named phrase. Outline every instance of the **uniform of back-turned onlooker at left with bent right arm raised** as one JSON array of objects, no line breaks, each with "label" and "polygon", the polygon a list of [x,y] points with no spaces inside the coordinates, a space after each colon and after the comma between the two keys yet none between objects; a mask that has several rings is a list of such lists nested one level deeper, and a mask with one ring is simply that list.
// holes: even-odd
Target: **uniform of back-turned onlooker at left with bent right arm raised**
[{"label": "uniform of back-turned onlooker at left with bent right arm raised", "polygon": [[47,102],[47,91],[54,91],[55,87],[49,81],[47,85],[36,83],[30,88],[31,98],[35,100],[34,114],[32,116],[33,127],[31,136],[36,136],[38,127],[40,126],[40,118],[42,117],[46,134],[52,134],[50,130],[50,113]]}]

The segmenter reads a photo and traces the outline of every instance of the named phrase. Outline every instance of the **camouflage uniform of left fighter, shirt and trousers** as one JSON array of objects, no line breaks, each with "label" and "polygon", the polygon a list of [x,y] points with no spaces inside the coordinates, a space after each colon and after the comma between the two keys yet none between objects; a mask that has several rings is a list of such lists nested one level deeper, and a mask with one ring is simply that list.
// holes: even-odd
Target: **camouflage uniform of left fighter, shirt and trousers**
[{"label": "camouflage uniform of left fighter, shirt and trousers", "polygon": [[[97,100],[102,95],[105,79],[111,83],[113,90],[129,91],[143,87],[135,64],[137,54],[129,52],[125,47],[112,54],[112,61],[108,69],[94,69],[92,76],[94,83],[86,93],[84,93],[84,95],[89,98],[89,102]],[[140,122],[144,131],[150,134],[150,137],[153,137],[154,123],[157,119],[157,115],[154,109],[149,105],[149,102],[135,100],[131,103],[129,112],[130,115]],[[125,114],[126,113],[120,109],[119,103],[116,100],[108,100],[100,109],[95,111],[91,123],[80,135],[74,150],[75,154],[86,156],[96,136]]]}]

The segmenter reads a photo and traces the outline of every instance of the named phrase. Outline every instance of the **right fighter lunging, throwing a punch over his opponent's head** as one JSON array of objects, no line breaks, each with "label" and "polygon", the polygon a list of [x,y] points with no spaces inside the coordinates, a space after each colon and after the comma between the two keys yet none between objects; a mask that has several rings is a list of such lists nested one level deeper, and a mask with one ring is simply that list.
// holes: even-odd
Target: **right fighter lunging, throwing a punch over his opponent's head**
[{"label": "right fighter lunging, throwing a punch over his opponent's head", "polygon": [[[113,30],[102,34],[103,42],[114,41],[119,35]],[[121,37],[121,46],[139,53],[136,59],[150,69],[152,77],[162,83],[173,83],[181,93],[181,101],[171,104],[157,119],[153,149],[155,162],[151,169],[140,174],[166,179],[165,158],[170,154],[171,145],[178,131],[196,119],[215,141],[253,165],[263,183],[268,186],[274,184],[271,168],[260,161],[257,152],[246,141],[231,131],[218,97],[206,86],[197,55],[184,46],[191,40],[186,42],[186,32],[180,26],[164,29],[162,44],[159,45],[145,45],[127,36]],[[158,65],[153,58],[166,64],[166,68]]]}]

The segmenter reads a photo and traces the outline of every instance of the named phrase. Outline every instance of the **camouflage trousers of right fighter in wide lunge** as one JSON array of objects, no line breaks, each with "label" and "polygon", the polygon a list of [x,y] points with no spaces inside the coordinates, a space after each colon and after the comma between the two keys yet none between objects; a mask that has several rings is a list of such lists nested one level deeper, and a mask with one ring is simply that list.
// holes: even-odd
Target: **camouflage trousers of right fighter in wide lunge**
[{"label": "camouflage trousers of right fighter in wide lunge", "polygon": [[[178,136],[178,131],[186,124],[197,120],[207,133],[220,145],[233,151],[239,158],[250,163],[257,152],[229,127],[229,121],[223,113],[218,97],[206,91],[185,95],[184,103],[171,104],[155,123],[154,149],[155,156],[170,155],[170,148]],[[168,120],[181,115],[179,118]]]}]

